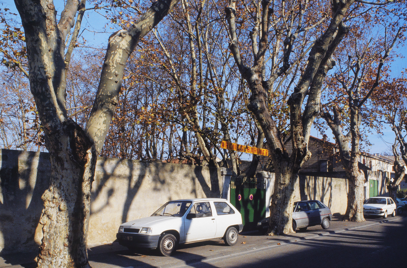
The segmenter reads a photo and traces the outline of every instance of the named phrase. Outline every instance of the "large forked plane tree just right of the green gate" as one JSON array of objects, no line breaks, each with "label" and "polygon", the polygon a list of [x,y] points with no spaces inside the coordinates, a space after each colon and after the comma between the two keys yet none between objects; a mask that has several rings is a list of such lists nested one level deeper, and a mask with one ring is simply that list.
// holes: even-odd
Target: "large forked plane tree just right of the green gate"
[{"label": "large forked plane tree just right of the green gate", "polygon": [[[350,31],[348,24],[359,20],[360,14],[373,12],[372,4],[390,3],[230,0],[225,8],[229,48],[250,89],[248,109],[264,132],[276,172],[269,207],[273,215],[270,234],[293,231],[294,186],[302,164],[311,156],[307,144],[319,114],[322,86],[328,71],[336,65],[333,56]],[[252,27],[241,27],[242,24]],[[239,38],[240,31],[245,31],[247,38]],[[243,53],[244,46],[249,46],[251,52]],[[287,98],[280,103],[287,104],[289,120],[282,129],[279,126],[283,123],[274,116],[272,105],[285,92]]]}]

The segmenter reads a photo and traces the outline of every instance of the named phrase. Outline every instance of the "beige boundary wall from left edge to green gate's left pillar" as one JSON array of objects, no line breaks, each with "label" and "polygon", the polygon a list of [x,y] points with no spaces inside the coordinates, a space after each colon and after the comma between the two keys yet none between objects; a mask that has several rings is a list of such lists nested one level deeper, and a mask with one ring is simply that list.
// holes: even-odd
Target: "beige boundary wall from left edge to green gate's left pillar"
[{"label": "beige boundary wall from left edge to green gate's left pillar", "polygon": [[[0,254],[35,250],[48,153],[0,149],[0,155]],[[112,243],[121,223],[149,216],[169,200],[228,198],[229,183],[225,168],[98,157],[88,245]]]}]

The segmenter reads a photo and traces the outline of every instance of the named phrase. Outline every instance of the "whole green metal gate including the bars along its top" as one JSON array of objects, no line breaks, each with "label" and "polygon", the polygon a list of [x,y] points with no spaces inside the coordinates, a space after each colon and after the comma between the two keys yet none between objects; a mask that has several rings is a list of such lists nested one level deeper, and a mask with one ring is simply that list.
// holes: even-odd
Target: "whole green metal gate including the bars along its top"
[{"label": "whole green metal gate including the bars along its top", "polygon": [[265,179],[234,179],[230,181],[230,203],[242,214],[243,230],[256,229],[266,215]]}]

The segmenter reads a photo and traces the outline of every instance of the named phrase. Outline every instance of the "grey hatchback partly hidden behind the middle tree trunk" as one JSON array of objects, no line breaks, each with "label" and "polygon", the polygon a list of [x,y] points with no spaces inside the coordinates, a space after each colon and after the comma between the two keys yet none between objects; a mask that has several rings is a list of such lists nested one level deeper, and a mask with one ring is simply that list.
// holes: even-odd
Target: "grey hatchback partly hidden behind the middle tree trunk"
[{"label": "grey hatchback partly hidden behind the middle tree trunk", "polygon": [[[257,229],[265,233],[269,228],[270,217],[257,222]],[[327,205],[319,200],[298,201],[293,206],[293,230],[305,231],[307,227],[321,225],[323,229],[328,229],[332,213]]]}]

